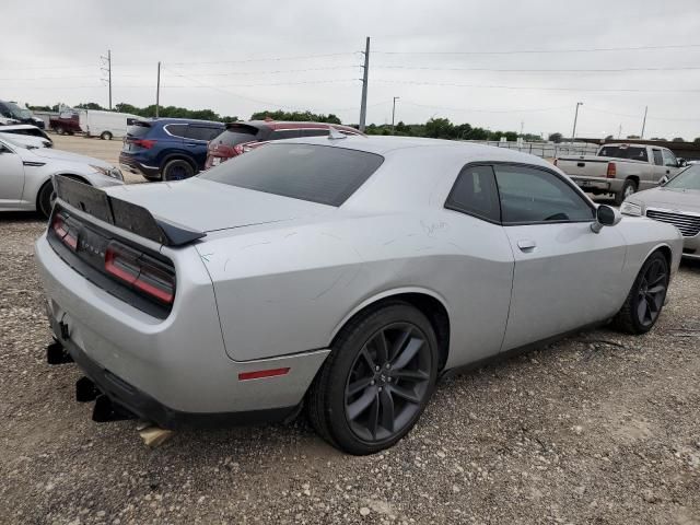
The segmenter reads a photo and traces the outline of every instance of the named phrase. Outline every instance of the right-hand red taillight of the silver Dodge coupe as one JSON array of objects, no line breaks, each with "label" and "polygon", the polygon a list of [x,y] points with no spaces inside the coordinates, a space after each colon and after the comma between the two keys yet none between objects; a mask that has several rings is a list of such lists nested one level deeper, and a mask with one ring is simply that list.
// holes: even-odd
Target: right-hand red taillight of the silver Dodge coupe
[{"label": "right-hand red taillight of the silver Dodge coupe", "polygon": [[105,271],[161,303],[173,303],[175,276],[141,252],[109,243],[105,250]]}]

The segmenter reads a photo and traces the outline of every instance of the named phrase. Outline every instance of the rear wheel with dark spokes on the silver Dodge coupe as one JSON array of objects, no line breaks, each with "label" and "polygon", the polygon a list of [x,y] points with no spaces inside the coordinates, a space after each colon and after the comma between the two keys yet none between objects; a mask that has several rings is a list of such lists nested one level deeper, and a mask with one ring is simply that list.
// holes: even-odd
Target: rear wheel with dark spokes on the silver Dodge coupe
[{"label": "rear wheel with dark spokes on the silver Dodge coupe", "polygon": [[423,412],[438,363],[438,340],[421,312],[398,301],[370,310],[338,334],[307,393],[308,419],[349,454],[388,448]]}]

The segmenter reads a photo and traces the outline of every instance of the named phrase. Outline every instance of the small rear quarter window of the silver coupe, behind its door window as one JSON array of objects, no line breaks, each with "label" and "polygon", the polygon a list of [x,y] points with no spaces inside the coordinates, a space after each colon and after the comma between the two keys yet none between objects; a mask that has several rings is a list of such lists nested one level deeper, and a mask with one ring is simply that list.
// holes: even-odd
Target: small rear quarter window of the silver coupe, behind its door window
[{"label": "small rear quarter window of the silver coupe, behind its door window", "polygon": [[487,221],[500,222],[501,207],[491,166],[466,166],[459,173],[445,207]]}]

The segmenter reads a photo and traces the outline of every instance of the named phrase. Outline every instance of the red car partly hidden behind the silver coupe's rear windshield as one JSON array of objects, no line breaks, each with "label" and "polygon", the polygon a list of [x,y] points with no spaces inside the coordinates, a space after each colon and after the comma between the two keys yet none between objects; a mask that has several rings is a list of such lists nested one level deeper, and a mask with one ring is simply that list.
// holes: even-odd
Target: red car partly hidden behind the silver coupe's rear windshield
[{"label": "red car partly hidden behind the silver coupe's rear windshield", "polygon": [[231,122],[226,129],[209,142],[205,170],[219,165],[229,159],[250,151],[271,140],[299,137],[322,137],[334,127],[347,135],[362,135],[350,126],[326,122],[282,122],[278,120],[250,120]]}]

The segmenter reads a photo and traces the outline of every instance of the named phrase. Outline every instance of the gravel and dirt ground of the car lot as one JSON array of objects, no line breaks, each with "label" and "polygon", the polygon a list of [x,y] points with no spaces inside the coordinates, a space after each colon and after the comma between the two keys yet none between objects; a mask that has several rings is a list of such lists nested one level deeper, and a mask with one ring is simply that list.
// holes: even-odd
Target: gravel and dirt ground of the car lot
[{"label": "gravel and dirt ground of the car lot", "polygon": [[[114,162],[118,141],[84,142]],[[651,334],[583,332],[444,382],[387,453],[345,456],[303,418],[151,451],[132,421],[91,421],[75,366],[45,363],[43,228],[0,217],[0,523],[700,524],[700,265]]]}]

